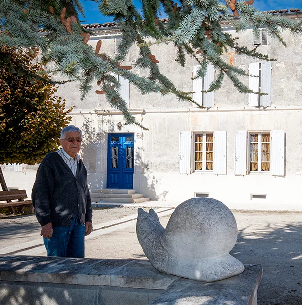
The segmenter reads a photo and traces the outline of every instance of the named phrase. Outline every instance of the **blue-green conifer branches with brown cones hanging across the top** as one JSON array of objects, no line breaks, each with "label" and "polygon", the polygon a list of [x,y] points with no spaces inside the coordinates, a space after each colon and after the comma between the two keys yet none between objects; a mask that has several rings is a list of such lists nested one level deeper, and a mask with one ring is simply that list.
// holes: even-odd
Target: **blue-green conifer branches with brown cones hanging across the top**
[{"label": "blue-green conifer branches with brown cones hanging across the top", "polygon": [[[111,107],[124,113],[126,124],[141,126],[121,98],[116,76],[128,79],[142,94],[175,94],[180,101],[195,103],[192,92],[177,90],[160,72],[160,58],[152,54],[152,44],[172,43],[177,50],[175,60],[181,66],[185,66],[186,56],[193,57],[200,64],[197,77],[205,75],[208,64],[214,65],[217,77],[207,92],[219,89],[224,76],[228,76],[239,92],[251,93],[240,81],[241,76],[248,74],[229,65],[223,60],[223,54],[235,51],[262,61],[273,59],[258,52],[257,48],[239,45],[236,38],[223,32],[221,21],[233,24],[238,33],[249,27],[254,30],[265,27],[269,35],[284,46],[282,31],[302,34],[302,21],[262,13],[251,5],[254,0],[141,0],[142,10],[138,10],[132,0],[95,2],[99,2],[100,12],[113,16],[121,28],[122,41],[115,55],[95,53],[87,44],[89,32],[79,23],[79,15],[83,15],[79,0],[1,0],[0,47],[39,48],[44,63],[53,62],[55,72],[61,73],[66,80],[80,82],[82,98],[91,90],[92,83],[97,82],[100,86],[97,93],[105,94]],[[162,14],[168,17],[168,23],[160,20]],[[132,45],[140,49],[135,66],[147,70],[147,77],[130,71],[132,67],[125,62]],[[1,54],[0,64],[6,64]],[[29,78],[34,77],[28,71],[23,73]]]}]

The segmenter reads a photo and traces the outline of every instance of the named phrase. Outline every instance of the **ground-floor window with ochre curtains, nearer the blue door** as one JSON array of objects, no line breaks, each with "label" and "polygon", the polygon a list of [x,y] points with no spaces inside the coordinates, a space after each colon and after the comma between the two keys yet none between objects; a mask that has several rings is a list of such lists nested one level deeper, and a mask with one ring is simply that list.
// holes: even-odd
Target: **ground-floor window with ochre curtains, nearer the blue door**
[{"label": "ground-floor window with ochre curtains, nearer the blue door", "polygon": [[213,133],[194,134],[194,171],[213,170]]}]

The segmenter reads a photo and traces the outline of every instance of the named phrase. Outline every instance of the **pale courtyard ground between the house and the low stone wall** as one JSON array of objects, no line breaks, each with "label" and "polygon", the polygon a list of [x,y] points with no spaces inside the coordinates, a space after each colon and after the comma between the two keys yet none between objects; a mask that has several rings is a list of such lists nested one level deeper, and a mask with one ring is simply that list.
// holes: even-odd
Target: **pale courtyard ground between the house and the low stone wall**
[{"label": "pale courtyard ground between the house and the low stone wall", "polygon": [[[231,254],[244,264],[261,264],[264,269],[258,305],[302,305],[302,213],[233,213],[238,224],[238,241]],[[100,223],[117,219],[121,222],[134,214],[134,207],[95,210],[94,226],[98,230],[86,241],[86,257],[146,259],[136,238],[135,221],[130,221],[133,217],[125,218],[128,222],[119,227],[100,229]],[[159,218],[163,226],[169,217]],[[39,235],[32,215],[1,218],[0,253],[8,246],[39,239]],[[45,255],[41,252],[43,247],[36,250]]]}]

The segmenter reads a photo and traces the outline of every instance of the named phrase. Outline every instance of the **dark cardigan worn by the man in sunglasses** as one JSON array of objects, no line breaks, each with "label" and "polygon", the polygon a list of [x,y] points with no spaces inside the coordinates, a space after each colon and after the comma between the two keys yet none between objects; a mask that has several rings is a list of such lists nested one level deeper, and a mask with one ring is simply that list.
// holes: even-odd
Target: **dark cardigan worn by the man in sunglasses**
[{"label": "dark cardigan worn by the man in sunglasses", "polygon": [[51,222],[53,227],[69,227],[78,212],[81,224],[91,222],[91,198],[82,160],[75,177],[57,152],[48,153],[37,171],[32,205],[41,226]]}]

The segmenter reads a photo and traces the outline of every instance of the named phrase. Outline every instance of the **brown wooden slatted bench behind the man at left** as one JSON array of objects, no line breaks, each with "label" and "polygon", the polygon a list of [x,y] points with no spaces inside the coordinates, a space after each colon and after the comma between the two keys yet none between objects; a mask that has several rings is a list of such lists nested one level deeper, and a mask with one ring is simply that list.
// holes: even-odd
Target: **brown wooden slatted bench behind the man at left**
[{"label": "brown wooden slatted bench behind the man at left", "polygon": [[[24,200],[27,198],[25,190],[16,191],[0,191],[0,208],[9,207],[13,213],[15,213],[14,207],[18,206],[18,211],[23,212],[23,208],[26,205],[30,206],[30,213],[33,213],[34,208],[32,206],[32,200]],[[12,200],[18,200],[12,202]],[[6,202],[2,202],[6,201]]]}]

